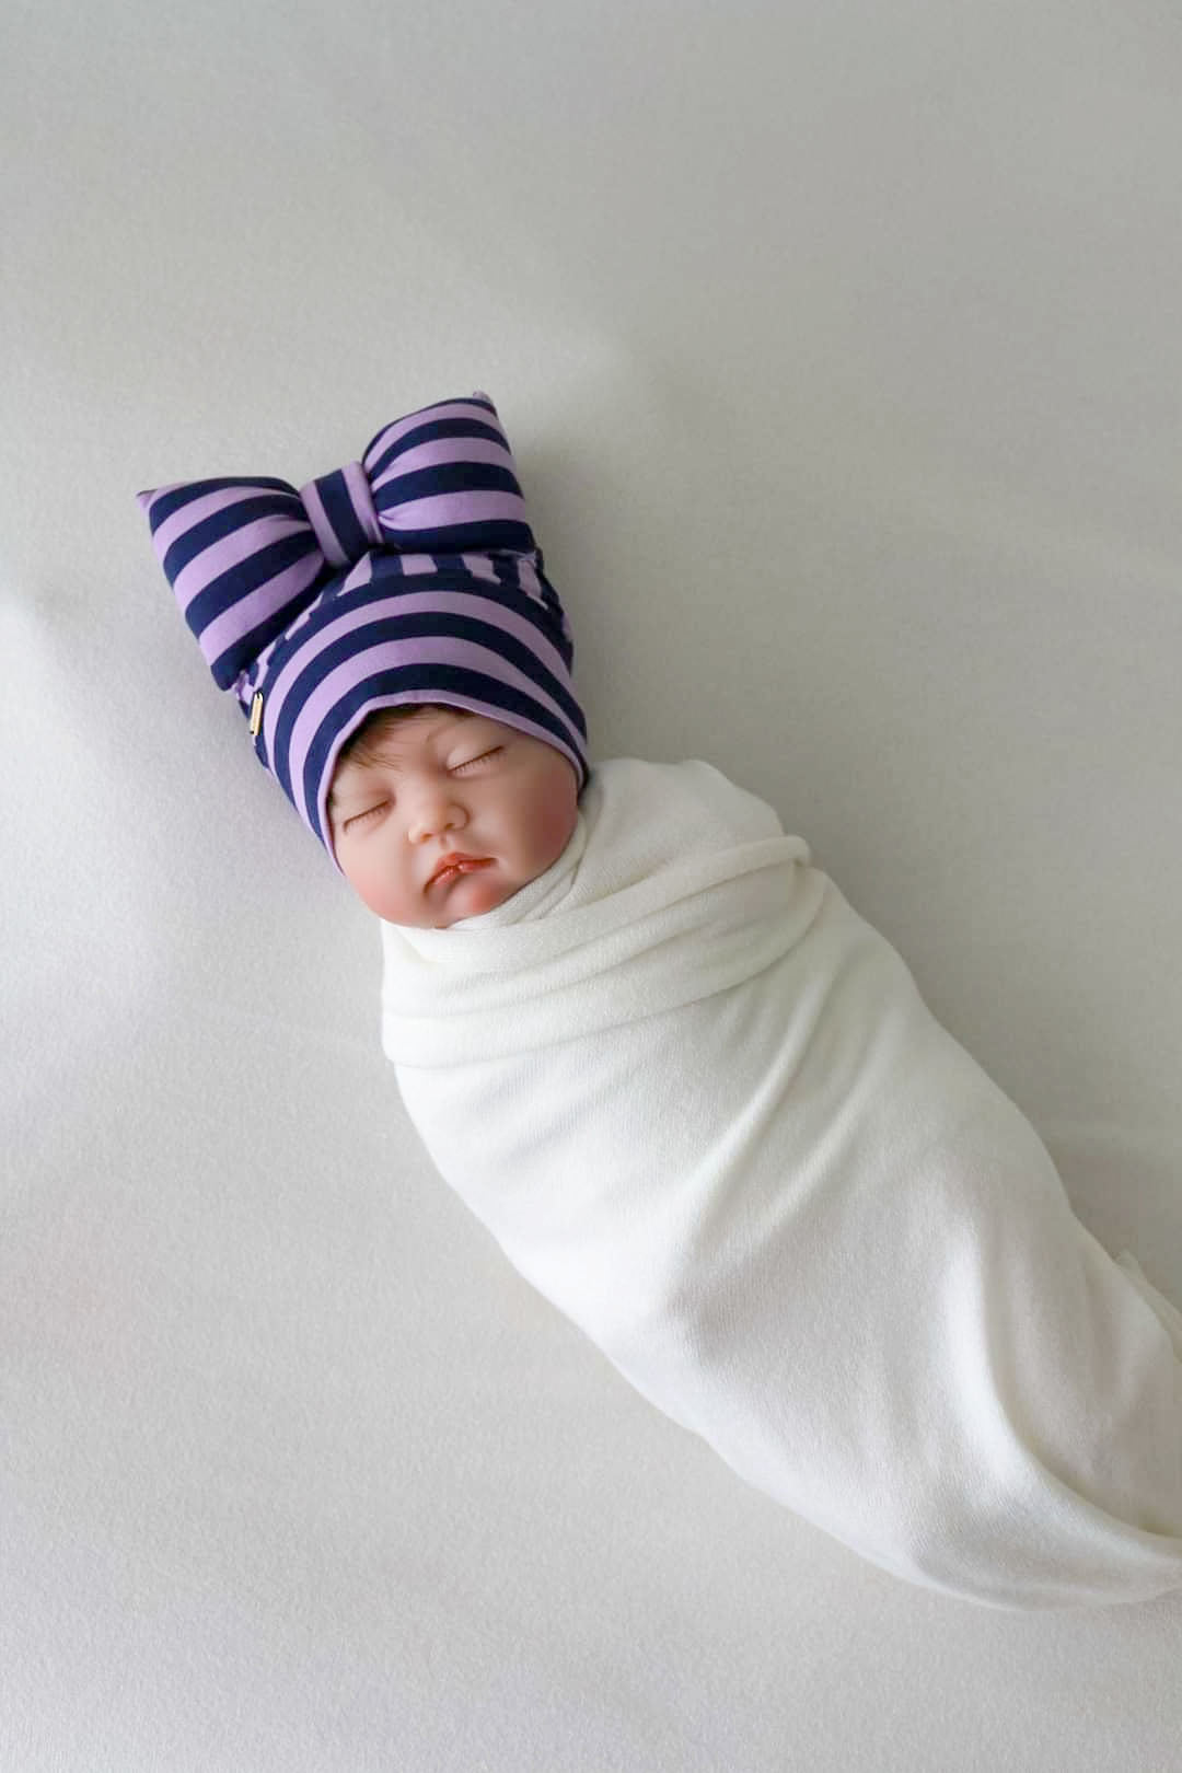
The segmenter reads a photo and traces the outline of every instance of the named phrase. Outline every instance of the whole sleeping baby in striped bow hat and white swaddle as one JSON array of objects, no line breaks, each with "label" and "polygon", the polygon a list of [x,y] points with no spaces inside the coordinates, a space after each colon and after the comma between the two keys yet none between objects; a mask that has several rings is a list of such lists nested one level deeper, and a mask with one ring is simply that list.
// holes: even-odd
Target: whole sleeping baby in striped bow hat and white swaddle
[{"label": "whole sleeping baby in striped bow hat and white swaddle", "polygon": [[1182,1589],[1182,1314],[709,762],[587,755],[486,394],[140,493],[262,766],[381,920],[383,1046],[514,1268],[743,1479],[989,1606]]}]

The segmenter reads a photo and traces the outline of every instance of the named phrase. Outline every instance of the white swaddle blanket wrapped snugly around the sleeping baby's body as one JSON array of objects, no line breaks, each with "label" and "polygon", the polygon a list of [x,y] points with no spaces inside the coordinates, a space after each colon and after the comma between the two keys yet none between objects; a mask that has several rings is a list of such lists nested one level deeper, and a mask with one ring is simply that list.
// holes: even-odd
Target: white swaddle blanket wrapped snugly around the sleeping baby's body
[{"label": "white swaddle blanket wrapped snugly around the sleeping baby's body", "polygon": [[603,762],[546,874],[383,943],[443,1177],[735,1472],[984,1605],[1182,1587],[1182,1314],[771,807]]}]

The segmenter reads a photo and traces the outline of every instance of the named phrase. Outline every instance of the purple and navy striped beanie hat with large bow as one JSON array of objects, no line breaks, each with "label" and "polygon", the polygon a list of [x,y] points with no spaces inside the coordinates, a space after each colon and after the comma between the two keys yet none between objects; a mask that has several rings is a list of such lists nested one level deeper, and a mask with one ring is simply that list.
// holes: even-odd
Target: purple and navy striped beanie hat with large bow
[{"label": "purple and navy striped beanie hat with large bow", "polygon": [[214,683],[337,867],[333,768],[379,707],[443,702],[517,727],[583,791],[571,626],[487,394],[395,418],[299,491],[220,475],[136,496]]}]

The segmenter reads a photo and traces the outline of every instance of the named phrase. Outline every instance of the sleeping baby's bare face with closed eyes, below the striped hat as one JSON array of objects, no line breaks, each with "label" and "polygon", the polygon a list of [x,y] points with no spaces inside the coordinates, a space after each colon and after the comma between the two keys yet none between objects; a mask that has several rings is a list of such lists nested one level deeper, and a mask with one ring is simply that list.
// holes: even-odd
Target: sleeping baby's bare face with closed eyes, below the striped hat
[{"label": "sleeping baby's bare face with closed eyes, below the striped hat", "polygon": [[[328,817],[337,862],[370,911],[447,929],[558,860],[578,819],[578,777],[553,745],[500,720],[431,713],[395,727],[381,762],[337,769]],[[484,865],[438,878],[452,851]]]}]

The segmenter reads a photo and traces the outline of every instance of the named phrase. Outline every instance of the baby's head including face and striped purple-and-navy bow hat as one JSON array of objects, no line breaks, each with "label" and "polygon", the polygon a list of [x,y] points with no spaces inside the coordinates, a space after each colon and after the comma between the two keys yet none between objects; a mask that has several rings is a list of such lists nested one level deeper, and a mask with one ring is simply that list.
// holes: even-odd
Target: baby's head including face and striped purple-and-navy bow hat
[{"label": "baby's head including face and striped purple-and-navy bow hat", "polygon": [[[574,642],[487,394],[392,420],[299,491],[138,498],[255,757],[370,910],[445,929],[562,855],[590,768]],[[432,883],[448,851],[484,867]]]}]

